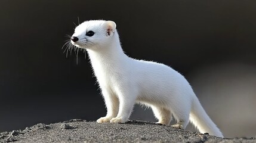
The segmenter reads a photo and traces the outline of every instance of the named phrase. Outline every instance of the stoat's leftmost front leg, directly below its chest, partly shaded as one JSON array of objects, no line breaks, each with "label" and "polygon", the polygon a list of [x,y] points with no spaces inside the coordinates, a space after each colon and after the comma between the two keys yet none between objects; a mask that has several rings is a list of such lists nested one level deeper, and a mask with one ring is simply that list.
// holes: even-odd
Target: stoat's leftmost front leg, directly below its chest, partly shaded
[{"label": "stoat's leftmost front leg, directly below its chest, partly shaded", "polygon": [[107,115],[105,117],[101,117],[97,120],[97,123],[110,122],[113,117],[116,117],[118,114],[119,108],[119,100],[115,94],[107,91],[106,89],[102,89],[102,94],[104,97],[104,101],[107,107]]}]

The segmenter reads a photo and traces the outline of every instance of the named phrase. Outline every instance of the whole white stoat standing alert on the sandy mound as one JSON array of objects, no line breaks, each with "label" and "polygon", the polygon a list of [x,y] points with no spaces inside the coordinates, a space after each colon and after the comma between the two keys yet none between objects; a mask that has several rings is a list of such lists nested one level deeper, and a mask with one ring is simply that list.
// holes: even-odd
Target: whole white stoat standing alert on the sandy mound
[{"label": "whole white stoat standing alert on the sandy mound", "polygon": [[189,82],[164,64],[135,60],[124,54],[113,21],[85,21],[75,29],[71,42],[86,49],[100,85],[106,117],[98,123],[125,123],[135,102],[152,108],[158,123],[186,128],[189,120],[200,132],[223,137],[203,110]]}]

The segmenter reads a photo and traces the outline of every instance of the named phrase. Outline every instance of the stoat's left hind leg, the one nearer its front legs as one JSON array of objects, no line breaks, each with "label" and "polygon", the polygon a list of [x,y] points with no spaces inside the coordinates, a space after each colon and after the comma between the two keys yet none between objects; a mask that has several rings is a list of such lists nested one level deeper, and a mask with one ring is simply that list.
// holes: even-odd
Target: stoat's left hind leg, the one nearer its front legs
[{"label": "stoat's left hind leg, the one nearer its front legs", "polygon": [[172,120],[172,114],[170,110],[162,107],[156,107],[154,105],[151,105],[151,108],[155,114],[155,117],[158,119],[158,123],[169,125]]}]

